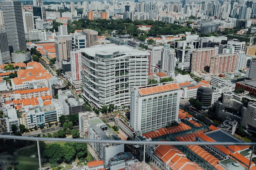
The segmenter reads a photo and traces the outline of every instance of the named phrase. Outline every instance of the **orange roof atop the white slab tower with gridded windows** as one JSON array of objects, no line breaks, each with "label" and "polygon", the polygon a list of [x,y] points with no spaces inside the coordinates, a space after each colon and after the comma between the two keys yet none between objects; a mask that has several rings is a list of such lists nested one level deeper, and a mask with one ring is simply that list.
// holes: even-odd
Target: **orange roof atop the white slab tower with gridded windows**
[{"label": "orange roof atop the white slab tower with gridded windows", "polygon": [[174,89],[180,89],[180,86],[178,86],[177,83],[171,83],[171,84],[159,85],[154,87],[146,87],[146,88],[139,89],[139,94],[141,96],[144,96],[147,94],[165,92],[165,91],[174,90]]}]

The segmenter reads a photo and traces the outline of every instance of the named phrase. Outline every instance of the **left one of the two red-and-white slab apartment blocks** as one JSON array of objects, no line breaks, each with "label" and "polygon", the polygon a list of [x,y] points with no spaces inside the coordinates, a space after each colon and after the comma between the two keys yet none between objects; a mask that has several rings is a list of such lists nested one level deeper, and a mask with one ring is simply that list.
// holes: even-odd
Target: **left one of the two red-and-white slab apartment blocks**
[{"label": "left one of the two red-and-white slab apartment blocks", "polygon": [[191,73],[209,72],[210,58],[215,55],[215,48],[195,49],[191,58]]}]

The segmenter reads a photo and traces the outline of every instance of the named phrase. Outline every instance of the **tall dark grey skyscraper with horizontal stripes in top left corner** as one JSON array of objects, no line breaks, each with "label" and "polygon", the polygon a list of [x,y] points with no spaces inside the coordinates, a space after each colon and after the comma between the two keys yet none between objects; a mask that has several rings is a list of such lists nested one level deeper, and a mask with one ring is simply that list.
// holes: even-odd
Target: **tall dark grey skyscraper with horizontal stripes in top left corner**
[{"label": "tall dark grey skyscraper with horizontal stripes in top left corner", "polygon": [[2,11],[10,52],[26,51],[27,46],[20,1],[2,1]]}]

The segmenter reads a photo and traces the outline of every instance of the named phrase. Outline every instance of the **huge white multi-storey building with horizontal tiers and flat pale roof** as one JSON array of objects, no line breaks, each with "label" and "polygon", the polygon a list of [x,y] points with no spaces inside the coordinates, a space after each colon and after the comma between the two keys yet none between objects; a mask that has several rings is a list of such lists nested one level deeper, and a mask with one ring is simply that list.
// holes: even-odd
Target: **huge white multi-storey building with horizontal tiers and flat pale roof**
[{"label": "huge white multi-storey building with horizontal tiers and flat pale roof", "polygon": [[83,94],[95,106],[130,105],[130,90],[148,84],[147,51],[114,44],[80,50]]}]

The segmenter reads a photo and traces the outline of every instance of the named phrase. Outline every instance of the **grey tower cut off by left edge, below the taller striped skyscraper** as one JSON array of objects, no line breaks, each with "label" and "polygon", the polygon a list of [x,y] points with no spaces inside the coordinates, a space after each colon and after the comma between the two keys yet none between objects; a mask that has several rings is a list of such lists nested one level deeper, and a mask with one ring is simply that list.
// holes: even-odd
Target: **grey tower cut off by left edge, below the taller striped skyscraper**
[{"label": "grey tower cut off by left edge, below the taller striped skyscraper", "polygon": [[4,63],[11,63],[11,55],[6,30],[0,29],[0,65]]}]

